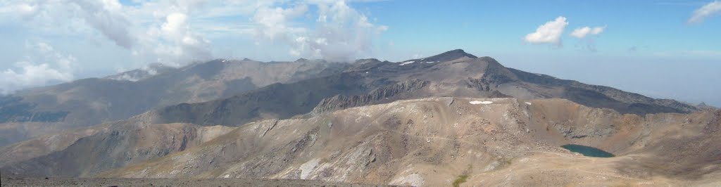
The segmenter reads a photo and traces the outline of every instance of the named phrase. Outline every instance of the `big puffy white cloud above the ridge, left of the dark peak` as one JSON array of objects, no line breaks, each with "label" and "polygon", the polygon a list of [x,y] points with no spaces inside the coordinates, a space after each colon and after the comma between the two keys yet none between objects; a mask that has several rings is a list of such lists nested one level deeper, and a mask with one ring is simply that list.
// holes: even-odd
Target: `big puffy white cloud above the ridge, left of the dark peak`
[{"label": "big puffy white cloud above the ridge, left of the dark peak", "polygon": [[[317,6],[315,27],[291,26],[294,18],[306,14],[307,6]],[[263,7],[255,12],[254,21],[260,25],[257,36],[286,42],[291,46],[291,55],[333,61],[372,53],[373,37],[388,29],[371,23],[345,1],[309,1],[288,9]]]}]

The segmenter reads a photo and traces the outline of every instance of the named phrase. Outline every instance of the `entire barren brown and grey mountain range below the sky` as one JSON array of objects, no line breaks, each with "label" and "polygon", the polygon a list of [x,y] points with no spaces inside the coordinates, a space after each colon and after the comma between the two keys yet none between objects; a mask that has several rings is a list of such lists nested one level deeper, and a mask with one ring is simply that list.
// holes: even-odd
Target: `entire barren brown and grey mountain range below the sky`
[{"label": "entire barren brown and grey mountain range below the sky", "polygon": [[721,185],[720,110],[464,50],[402,62],[151,65],[19,91],[0,111],[4,175]]}]

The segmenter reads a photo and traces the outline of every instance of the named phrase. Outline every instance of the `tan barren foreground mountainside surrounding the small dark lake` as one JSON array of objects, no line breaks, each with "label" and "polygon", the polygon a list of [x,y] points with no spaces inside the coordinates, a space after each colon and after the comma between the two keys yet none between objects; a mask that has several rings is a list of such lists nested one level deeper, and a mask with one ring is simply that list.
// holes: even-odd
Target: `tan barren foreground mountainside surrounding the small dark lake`
[{"label": "tan barren foreground mountainside surrounding the small dark lake", "polygon": [[[720,111],[640,117],[562,99],[430,98],[266,120],[182,152],[101,174],[293,178],[448,186],[684,185],[719,173]],[[703,140],[700,141],[699,140]],[[699,145],[686,146],[698,142]],[[590,145],[616,158],[559,146]],[[675,151],[673,151],[675,150]],[[669,164],[669,163],[679,163]]]}]

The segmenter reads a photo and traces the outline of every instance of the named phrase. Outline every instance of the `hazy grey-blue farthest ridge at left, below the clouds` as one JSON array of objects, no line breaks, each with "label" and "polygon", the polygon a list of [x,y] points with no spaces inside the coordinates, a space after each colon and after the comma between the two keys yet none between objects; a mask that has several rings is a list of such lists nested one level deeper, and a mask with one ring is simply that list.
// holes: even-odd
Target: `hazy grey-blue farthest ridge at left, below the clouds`
[{"label": "hazy grey-blue farthest ridge at left, below the clouds", "polygon": [[273,83],[327,76],[346,65],[302,59],[278,63],[220,59],[182,68],[151,65],[107,78],[19,91],[0,96],[0,146],[127,119],[161,106],[211,101]]}]

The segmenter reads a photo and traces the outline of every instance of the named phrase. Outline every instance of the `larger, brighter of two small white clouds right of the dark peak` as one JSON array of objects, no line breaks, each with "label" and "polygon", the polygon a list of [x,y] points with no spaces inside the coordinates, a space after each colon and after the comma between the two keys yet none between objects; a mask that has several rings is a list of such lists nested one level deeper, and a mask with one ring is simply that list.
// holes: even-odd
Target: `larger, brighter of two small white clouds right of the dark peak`
[{"label": "larger, brighter of two small white clouds right of the dark peak", "polygon": [[531,44],[553,44],[562,46],[561,36],[568,25],[565,17],[557,17],[553,21],[546,22],[536,29],[536,32],[530,33],[523,38]]}]

